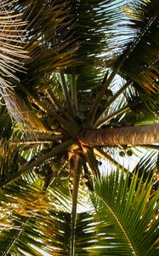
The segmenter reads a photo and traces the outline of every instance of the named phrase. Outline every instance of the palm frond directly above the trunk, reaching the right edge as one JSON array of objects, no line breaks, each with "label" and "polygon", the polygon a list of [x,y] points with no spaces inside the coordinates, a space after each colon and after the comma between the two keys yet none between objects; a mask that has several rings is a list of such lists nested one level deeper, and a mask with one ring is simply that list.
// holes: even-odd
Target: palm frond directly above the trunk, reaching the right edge
[{"label": "palm frond directly above the trunk, reaching the right edge", "polygon": [[[104,104],[99,107],[99,113],[97,113],[99,117],[96,125],[103,124],[116,127],[128,124],[148,125],[151,122],[157,123],[158,95],[156,93],[150,93],[149,95],[143,89],[137,90],[135,86],[136,84],[134,83],[128,86],[127,90],[122,91],[122,95],[118,96],[115,102],[111,102],[111,98],[108,100],[104,98],[102,100]],[[114,96],[118,94],[121,88],[117,88]],[[108,102],[111,102],[110,106]],[[124,113],[120,112],[120,108],[122,109],[123,106],[128,106],[128,110],[125,110]]]}]

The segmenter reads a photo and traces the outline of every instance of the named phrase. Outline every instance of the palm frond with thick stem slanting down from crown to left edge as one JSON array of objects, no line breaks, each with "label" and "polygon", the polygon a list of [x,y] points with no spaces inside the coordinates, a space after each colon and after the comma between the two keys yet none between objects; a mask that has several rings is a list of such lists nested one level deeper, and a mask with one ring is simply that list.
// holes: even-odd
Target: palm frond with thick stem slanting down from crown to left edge
[{"label": "palm frond with thick stem slanting down from crown to left edge", "polygon": [[[7,143],[8,145],[8,143]],[[21,153],[20,148],[20,154],[18,150],[18,146],[16,144],[11,144],[12,147],[10,147],[10,150],[6,149],[6,147],[3,147],[3,154],[1,157],[1,181],[0,181],[0,188],[3,186],[8,185],[9,183],[14,182],[15,180],[19,179],[19,177],[26,174],[26,172],[31,171],[35,166],[40,166],[44,163],[45,160],[49,160],[51,158],[54,158],[55,155],[62,154],[65,152],[65,150],[71,150],[71,148],[75,147],[75,144],[72,140],[69,140],[65,143],[60,143],[56,145],[54,148],[48,148],[47,152],[45,151],[44,154],[41,151],[40,148],[40,155],[36,154],[36,150],[29,150],[29,152],[26,152],[23,154]],[[13,148],[16,148],[16,151],[13,151]],[[37,149],[37,153],[39,151],[39,148]],[[16,155],[14,155],[16,153]],[[29,155],[28,155],[29,153]],[[26,160],[24,159],[26,154]],[[19,157],[18,157],[19,156]],[[15,158],[15,165],[14,165],[14,172],[12,172],[12,162]],[[29,160],[28,160],[29,159]],[[22,163],[21,163],[22,160]]]}]

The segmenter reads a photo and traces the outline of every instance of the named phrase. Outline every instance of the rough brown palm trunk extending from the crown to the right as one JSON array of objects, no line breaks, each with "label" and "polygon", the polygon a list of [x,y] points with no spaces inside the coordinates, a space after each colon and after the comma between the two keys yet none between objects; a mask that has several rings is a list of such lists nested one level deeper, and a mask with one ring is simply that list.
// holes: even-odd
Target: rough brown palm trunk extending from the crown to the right
[{"label": "rough brown palm trunk extending from the crown to the right", "polygon": [[87,130],[82,131],[78,138],[80,143],[89,147],[159,143],[159,125]]}]

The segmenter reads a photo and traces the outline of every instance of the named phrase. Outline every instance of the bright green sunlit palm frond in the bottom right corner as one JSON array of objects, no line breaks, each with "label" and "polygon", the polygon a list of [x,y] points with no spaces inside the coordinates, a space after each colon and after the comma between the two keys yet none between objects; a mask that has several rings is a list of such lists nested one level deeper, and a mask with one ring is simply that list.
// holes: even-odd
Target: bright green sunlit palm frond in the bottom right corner
[{"label": "bright green sunlit palm frond in the bottom right corner", "polygon": [[119,172],[96,183],[99,255],[157,255],[158,191],[150,196],[152,181],[137,183],[133,176],[129,186],[128,174]]}]

